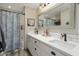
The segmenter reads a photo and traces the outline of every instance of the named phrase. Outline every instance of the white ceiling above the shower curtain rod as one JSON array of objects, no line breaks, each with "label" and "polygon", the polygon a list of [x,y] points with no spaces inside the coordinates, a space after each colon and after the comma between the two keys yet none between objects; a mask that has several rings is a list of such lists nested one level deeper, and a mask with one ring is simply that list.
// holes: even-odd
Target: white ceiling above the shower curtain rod
[{"label": "white ceiling above the shower curtain rod", "polygon": [[[36,10],[39,5],[39,3],[0,3],[0,8],[7,9],[10,11],[22,12],[24,10],[24,6],[28,6]],[[11,6],[11,8],[8,8],[8,6]]]}]

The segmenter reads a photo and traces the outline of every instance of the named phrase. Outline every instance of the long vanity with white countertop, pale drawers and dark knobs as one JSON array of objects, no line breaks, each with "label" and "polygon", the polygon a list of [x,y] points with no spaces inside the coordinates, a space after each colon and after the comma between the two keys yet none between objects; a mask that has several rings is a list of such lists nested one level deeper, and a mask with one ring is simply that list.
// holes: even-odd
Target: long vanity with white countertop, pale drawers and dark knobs
[{"label": "long vanity with white countertop, pale drawers and dark knobs", "polygon": [[74,41],[63,41],[54,36],[28,33],[28,49],[34,56],[78,56],[79,44]]}]

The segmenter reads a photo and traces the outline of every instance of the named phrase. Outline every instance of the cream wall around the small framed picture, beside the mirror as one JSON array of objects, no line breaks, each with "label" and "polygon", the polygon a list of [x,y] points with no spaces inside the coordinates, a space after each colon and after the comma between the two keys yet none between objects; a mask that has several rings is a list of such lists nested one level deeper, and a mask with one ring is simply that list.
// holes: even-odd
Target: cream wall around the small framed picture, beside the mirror
[{"label": "cream wall around the small framed picture, beside the mirror", "polygon": [[27,48],[27,37],[26,34],[30,31],[33,31],[34,27],[27,26],[27,18],[34,18],[35,19],[35,26],[37,23],[37,12],[35,9],[31,7],[25,7],[25,49]]}]

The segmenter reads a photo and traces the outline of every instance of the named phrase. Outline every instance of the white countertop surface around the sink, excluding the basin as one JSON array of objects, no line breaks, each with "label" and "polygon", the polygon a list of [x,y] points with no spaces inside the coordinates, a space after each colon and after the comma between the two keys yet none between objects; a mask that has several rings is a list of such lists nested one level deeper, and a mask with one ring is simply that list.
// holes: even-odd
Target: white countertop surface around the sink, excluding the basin
[{"label": "white countertop surface around the sink, excluding the basin", "polygon": [[75,43],[75,42],[70,42],[70,43],[73,43],[75,44],[76,46],[73,48],[73,49],[66,49],[64,47],[61,47],[60,45],[58,44],[53,44],[53,43],[50,43],[49,41],[50,40],[60,40],[56,37],[53,37],[53,36],[49,36],[49,37],[45,37],[45,36],[42,36],[40,34],[34,34],[34,33],[28,33],[27,35],[30,35],[32,37],[34,37],[35,39],[51,46],[51,47],[55,47],[69,55],[72,55],[72,56],[79,56],[79,44],[78,43]]}]

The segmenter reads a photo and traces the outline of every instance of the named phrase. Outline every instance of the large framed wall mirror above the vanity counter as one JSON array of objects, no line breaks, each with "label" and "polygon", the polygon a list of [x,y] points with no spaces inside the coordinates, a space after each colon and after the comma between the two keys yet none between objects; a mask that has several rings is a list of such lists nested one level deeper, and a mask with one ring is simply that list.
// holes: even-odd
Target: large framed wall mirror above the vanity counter
[{"label": "large framed wall mirror above the vanity counter", "polygon": [[74,28],[75,4],[65,3],[40,14],[38,25],[43,28]]}]

